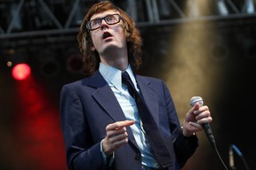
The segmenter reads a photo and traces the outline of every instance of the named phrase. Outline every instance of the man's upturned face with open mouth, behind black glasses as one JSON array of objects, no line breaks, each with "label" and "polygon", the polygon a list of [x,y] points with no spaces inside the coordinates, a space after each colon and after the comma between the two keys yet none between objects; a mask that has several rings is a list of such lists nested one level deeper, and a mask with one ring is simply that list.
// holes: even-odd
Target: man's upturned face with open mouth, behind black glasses
[{"label": "man's upturned face with open mouth, behind black glasses", "polygon": [[[92,15],[92,19],[104,18],[110,14],[120,14],[114,10],[106,12],[100,12]],[[124,25],[123,20],[113,25],[102,19],[99,28],[91,31],[93,47],[92,50],[97,50],[98,53],[104,55],[109,50],[117,50],[126,48],[126,39],[124,37]],[[126,50],[126,49],[125,49]]]}]

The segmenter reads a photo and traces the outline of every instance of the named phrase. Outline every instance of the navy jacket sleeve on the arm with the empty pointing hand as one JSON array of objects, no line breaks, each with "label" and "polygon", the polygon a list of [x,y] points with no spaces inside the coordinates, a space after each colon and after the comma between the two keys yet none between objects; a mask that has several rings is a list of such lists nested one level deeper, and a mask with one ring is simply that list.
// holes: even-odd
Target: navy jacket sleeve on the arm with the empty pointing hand
[{"label": "navy jacket sleeve on the arm with the empty pointing hand", "polygon": [[83,104],[74,86],[60,92],[60,121],[64,135],[68,169],[104,169],[100,142],[93,143]]}]

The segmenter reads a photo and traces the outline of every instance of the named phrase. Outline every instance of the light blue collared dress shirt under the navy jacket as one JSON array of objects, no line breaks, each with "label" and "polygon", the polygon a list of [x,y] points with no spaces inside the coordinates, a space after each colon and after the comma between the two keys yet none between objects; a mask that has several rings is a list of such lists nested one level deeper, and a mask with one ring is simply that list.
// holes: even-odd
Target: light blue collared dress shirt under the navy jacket
[{"label": "light blue collared dress shirt under the navy jacket", "polygon": [[[116,69],[115,67],[105,65],[103,63],[100,63],[99,71],[104,79],[108,82],[109,87],[113,90],[126,119],[135,120],[135,123],[131,126],[131,129],[136,143],[138,144],[140,149],[142,166],[155,168],[159,167],[154,155],[152,154],[147,136],[145,135],[142,128],[142,123],[135,100],[129,94],[127,87],[122,84],[122,71]],[[131,66],[128,66],[125,71],[129,73],[135,88],[140,91],[137,86],[135,77],[132,73]]]}]

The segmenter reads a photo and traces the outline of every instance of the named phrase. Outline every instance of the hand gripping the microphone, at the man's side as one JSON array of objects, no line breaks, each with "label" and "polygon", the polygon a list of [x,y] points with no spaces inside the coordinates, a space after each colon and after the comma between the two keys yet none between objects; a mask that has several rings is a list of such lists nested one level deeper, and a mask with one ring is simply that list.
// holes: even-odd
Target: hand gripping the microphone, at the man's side
[{"label": "hand gripping the microphone, at the man's side", "polygon": [[183,122],[182,133],[184,136],[191,136],[196,132],[202,131],[202,124],[211,123],[212,117],[211,112],[207,105],[200,107],[197,102],[186,114]]}]

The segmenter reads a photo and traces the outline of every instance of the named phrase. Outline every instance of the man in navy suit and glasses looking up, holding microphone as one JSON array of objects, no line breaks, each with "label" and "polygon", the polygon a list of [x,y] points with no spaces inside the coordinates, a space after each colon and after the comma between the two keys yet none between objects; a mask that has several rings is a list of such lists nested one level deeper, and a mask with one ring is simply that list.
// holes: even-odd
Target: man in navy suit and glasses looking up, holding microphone
[{"label": "man in navy suit and glasses looking up, holding microphone", "polygon": [[[64,85],[60,93],[68,169],[178,170],[184,166],[198,146],[195,133],[202,131],[203,123],[212,122],[208,107],[196,103],[181,128],[164,81],[135,73],[141,63],[140,32],[132,18],[109,1],[92,6],[77,39],[90,76]],[[154,127],[150,130],[147,115],[142,120],[137,100],[122,83],[124,72],[147,105],[149,124]]]}]

